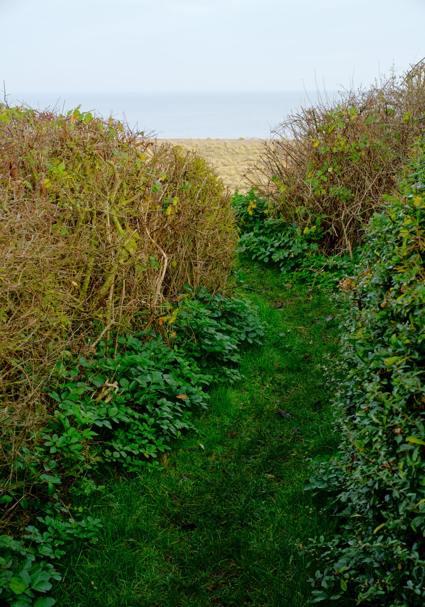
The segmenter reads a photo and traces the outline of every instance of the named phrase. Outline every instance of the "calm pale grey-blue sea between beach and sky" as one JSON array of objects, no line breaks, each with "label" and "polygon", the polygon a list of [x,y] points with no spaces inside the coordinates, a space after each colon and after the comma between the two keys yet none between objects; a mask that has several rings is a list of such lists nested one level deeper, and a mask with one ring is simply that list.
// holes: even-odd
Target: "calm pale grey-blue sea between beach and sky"
[{"label": "calm pale grey-blue sea between beach and sky", "polygon": [[[310,101],[309,101],[310,99]],[[229,138],[270,135],[299,104],[310,106],[316,92],[243,93],[12,93],[9,105],[26,103],[45,109],[55,107],[97,110],[124,119],[140,131],[164,138]]]}]

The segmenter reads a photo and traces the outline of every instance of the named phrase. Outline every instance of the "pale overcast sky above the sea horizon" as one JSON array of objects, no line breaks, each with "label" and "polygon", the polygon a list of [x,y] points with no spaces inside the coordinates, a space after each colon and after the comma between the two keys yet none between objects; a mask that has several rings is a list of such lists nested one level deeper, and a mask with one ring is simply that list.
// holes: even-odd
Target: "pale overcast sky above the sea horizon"
[{"label": "pale overcast sky above the sea horizon", "polygon": [[0,0],[0,23],[7,92],[335,90],[425,56],[425,0]]}]

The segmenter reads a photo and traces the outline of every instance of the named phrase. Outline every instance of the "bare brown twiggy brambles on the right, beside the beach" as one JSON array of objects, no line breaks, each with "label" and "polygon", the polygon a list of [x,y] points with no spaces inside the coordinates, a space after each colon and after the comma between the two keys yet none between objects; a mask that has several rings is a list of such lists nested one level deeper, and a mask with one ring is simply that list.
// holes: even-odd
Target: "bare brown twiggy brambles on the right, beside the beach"
[{"label": "bare brown twiggy brambles on the right, beside the beach", "polygon": [[345,91],[276,127],[247,177],[269,197],[270,217],[305,229],[320,220],[321,251],[349,253],[362,227],[396,191],[424,129],[425,61],[369,90]]}]

